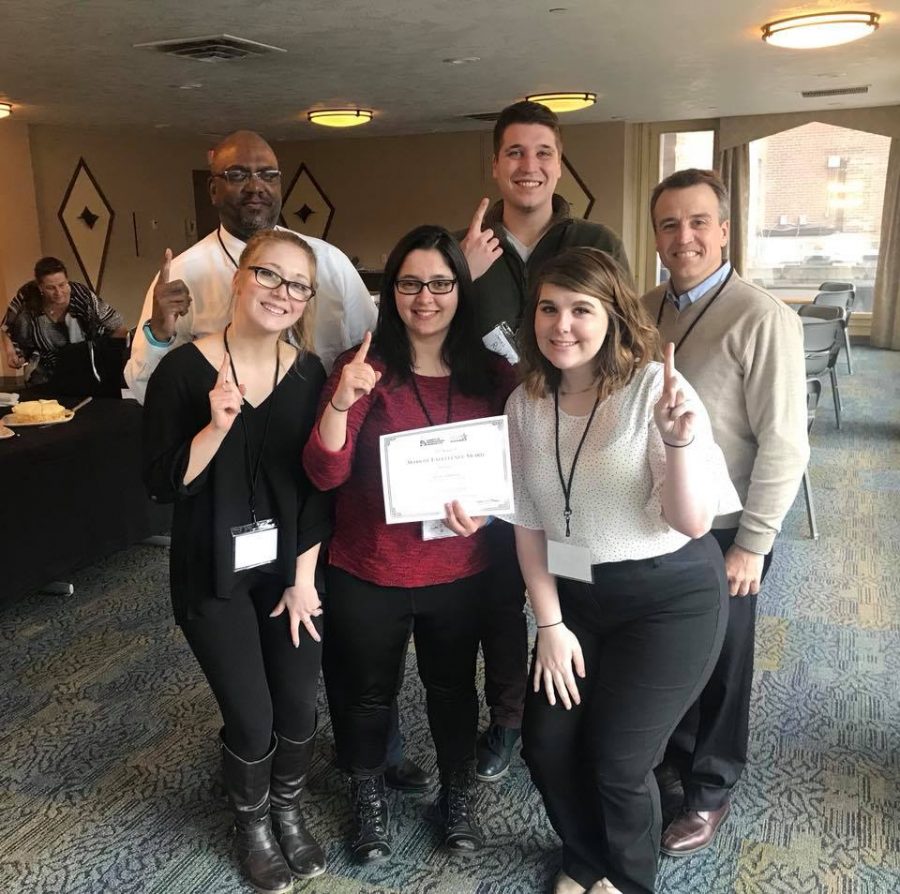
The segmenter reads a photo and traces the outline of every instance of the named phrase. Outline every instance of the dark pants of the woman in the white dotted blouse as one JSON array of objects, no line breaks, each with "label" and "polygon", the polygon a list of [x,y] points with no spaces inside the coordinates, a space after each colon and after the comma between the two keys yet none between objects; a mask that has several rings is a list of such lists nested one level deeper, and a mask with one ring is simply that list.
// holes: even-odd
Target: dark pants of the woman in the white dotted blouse
[{"label": "dark pants of the woman in the white dotted blouse", "polygon": [[648,894],[662,825],[653,768],[718,655],[725,569],[707,535],[669,555],[595,565],[594,581],[557,579],[584,653],[581,704],[551,707],[529,687],[523,755],[565,872],[586,888],[605,876]]}]

